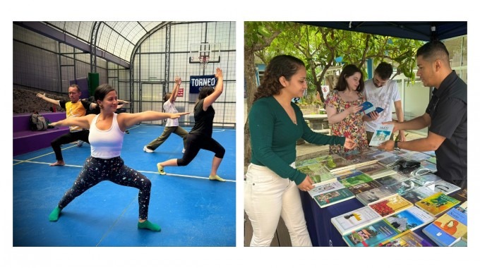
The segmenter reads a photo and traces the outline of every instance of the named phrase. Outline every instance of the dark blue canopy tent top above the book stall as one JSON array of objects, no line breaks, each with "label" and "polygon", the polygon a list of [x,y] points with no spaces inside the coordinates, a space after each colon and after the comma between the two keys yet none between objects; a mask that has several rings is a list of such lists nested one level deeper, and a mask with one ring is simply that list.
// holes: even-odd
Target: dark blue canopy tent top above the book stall
[{"label": "dark blue canopy tent top above the book stall", "polygon": [[300,21],[299,23],[423,41],[467,35],[466,21]]}]

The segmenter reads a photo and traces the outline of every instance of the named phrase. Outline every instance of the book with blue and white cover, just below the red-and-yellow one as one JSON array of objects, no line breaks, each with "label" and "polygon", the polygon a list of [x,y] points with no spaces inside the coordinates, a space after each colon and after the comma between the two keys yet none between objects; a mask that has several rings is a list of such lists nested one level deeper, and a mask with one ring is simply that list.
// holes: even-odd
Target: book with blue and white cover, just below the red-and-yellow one
[{"label": "book with blue and white cover, just below the red-and-yellow one", "polygon": [[397,212],[385,218],[385,221],[392,224],[399,233],[407,230],[416,230],[435,219],[430,214],[424,212],[418,207],[409,207],[401,212]]}]

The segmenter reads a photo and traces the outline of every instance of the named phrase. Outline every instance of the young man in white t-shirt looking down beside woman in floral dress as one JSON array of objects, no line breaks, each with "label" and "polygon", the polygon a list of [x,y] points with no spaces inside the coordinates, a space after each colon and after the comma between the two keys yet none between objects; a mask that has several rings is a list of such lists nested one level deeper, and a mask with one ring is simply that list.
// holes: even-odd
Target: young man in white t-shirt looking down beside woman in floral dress
[{"label": "young man in white t-shirt looking down beside woman in floral dress", "polygon": [[[402,99],[400,99],[400,92],[397,88],[397,83],[390,80],[392,76],[392,65],[386,62],[378,64],[373,72],[373,78],[365,81],[365,97],[373,106],[383,108],[380,113],[372,111],[369,116],[364,116],[366,135],[368,142],[371,141],[373,133],[383,122],[392,121],[392,103],[395,106],[395,113],[397,114],[397,121],[403,122]],[[405,140],[404,130],[399,130],[399,140]],[[390,140],[393,135],[390,136]]]}]

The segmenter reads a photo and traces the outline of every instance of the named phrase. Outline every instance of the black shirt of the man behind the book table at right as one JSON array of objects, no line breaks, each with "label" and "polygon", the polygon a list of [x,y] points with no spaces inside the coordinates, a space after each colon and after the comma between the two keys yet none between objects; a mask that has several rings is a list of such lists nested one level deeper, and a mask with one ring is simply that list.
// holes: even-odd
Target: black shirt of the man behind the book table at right
[{"label": "black shirt of the man behind the book table at right", "polygon": [[455,71],[443,80],[428,103],[429,131],[445,137],[435,151],[437,175],[445,180],[467,179],[467,84]]}]

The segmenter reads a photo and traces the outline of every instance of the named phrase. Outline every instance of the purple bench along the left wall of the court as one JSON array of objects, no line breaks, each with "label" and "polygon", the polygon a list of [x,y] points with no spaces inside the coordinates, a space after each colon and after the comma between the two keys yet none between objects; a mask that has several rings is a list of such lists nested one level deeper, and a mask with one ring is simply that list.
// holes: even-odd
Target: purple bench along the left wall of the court
[{"label": "purple bench along the left wall of the court", "polygon": [[[40,114],[50,122],[66,118],[65,112]],[[30,130],[30,114],[13,114],[13,156],[50,147],[52,140],[68,131],[70,130],[66,126],[32,131]]]}]

